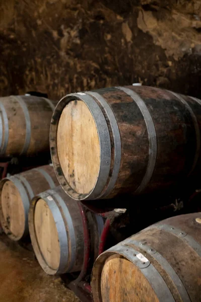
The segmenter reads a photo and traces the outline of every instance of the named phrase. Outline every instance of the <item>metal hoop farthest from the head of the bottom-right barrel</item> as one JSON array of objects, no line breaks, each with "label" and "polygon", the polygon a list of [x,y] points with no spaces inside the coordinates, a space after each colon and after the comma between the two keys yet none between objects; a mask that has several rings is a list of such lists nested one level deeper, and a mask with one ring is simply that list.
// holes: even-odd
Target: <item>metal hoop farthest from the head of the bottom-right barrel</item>
[{"label": "metal hoop farthest from the head of the bottom-right barrel", "polygon": [[149,228],[160,229],[172,233],[173,235],[179,237],[181,240],[186,242],[199,255],[199,257],[201,257],[201,245],[197,241],[195,241],[192,236],[188,235],[184,231],[175,228],[174,226],[169,224],[154,224],[151,225]]}]

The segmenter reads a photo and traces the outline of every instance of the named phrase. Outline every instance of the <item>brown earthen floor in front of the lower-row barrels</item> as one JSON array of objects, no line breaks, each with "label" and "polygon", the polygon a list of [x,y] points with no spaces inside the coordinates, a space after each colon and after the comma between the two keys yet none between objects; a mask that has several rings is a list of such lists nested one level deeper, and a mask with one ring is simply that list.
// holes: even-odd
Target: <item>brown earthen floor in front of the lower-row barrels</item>
[{"label": "brown earthen floor in front of the lower-row barrels", "polygon": [[33,252],[0,236],[0,302],[79,302],[59,277],[49,276]]}]

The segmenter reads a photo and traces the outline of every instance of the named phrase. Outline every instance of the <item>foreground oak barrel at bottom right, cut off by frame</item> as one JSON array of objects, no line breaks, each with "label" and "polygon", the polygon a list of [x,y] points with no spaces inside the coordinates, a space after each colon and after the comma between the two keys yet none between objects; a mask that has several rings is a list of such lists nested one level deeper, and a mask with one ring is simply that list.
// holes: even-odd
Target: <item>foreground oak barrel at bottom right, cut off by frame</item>
[{"label": "foreground oak barrel at bottom right, cut off by frame", "polygon": [[102,253],[94,302],[197,302],[201,298],[201,213],[171,217]]}]

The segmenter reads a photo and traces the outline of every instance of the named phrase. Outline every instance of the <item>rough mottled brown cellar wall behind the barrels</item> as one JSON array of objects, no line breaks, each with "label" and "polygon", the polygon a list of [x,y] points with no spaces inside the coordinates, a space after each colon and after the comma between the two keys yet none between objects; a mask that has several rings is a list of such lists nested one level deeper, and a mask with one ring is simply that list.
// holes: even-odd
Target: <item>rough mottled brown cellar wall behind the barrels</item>
[{"label": "rough mottled brown cellar wall behind the barrels", "polygon": [[7,0],[1,95],[141,82],[201,98],[200,0]]}]

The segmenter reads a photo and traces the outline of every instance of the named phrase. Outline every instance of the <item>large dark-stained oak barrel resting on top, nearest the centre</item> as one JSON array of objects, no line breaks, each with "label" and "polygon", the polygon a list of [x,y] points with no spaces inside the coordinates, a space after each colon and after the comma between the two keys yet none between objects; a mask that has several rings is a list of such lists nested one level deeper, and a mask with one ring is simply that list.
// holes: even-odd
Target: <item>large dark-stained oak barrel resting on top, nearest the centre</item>
[{"label": "large dark-stained oak barrel resting on top, nearest the centre", "polygon": [[128,86],[69,94],[51,121],[55,173],[78,200],[162,192],[200,166],[200,127],[201,101],[170,91]]}]

